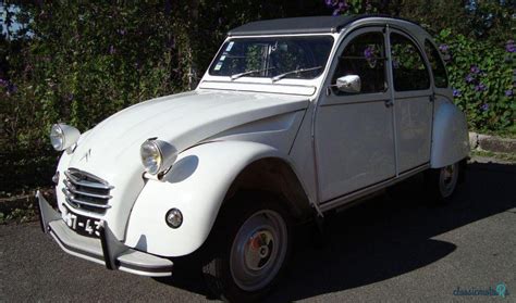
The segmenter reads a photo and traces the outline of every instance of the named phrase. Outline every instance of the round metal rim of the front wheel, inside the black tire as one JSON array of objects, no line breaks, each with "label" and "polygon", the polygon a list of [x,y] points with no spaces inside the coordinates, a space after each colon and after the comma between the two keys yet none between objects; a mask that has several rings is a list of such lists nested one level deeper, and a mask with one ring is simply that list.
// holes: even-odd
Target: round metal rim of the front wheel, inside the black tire
[{"label": "round metal rim of the front wheel, inside the black tire", "polygon": [[239,228],[231,248],[230,270],[245,291],[269,285],[286,255],[287,228],[283,217],[271,210],[253,214]]}]

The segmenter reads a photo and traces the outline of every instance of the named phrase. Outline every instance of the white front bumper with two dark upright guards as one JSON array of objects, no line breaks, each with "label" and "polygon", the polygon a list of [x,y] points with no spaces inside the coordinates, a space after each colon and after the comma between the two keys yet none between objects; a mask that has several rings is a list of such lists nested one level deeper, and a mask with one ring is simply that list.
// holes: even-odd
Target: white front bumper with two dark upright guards
[{"label": "white front bumper with two dark upright guards", "polygon": [[106,265],[108,269],[150,277],[172,275],[172,261],[124,245],[114,237],[107,222],[103,222],[100,228],[100,239],[84,237],[66,226],[61,215],[50,206],[39,190],[36,192],[36,199],[44,232],[50,233],[69,254]]}]

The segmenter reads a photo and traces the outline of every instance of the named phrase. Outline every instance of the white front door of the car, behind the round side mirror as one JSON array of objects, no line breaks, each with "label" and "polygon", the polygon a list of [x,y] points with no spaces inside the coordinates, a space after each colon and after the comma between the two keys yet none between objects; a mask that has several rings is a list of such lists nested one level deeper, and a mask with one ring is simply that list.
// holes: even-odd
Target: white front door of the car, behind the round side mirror
[{"label": "white front door of the car, behind the round side mirror", "polygon": [[[393,106],[383,28],[357,29],[340,45],[315,119],[320,202],[395,176]],[[336,78],[357,75],[358,93],[339,91]]]}]

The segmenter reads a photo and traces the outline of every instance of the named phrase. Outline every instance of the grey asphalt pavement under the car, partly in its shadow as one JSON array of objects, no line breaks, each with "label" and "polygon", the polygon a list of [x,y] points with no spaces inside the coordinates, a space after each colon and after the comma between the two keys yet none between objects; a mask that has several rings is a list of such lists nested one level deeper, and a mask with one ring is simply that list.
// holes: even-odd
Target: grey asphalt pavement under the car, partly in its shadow
[{"label": "grey asphalt pavement under the car, partly in its shadow", "polygon": [[[505,282],[516,302],[516,165],[471,164],[449,206],[422,203],[419,181],[332,216],[322,248],[299,228],[288,275],[269,301],[469,300],[453,295],[457,287]],[[0,301],[206,300],[196,275],[109,272],[62,252],[36,223],[0,226]]]}]

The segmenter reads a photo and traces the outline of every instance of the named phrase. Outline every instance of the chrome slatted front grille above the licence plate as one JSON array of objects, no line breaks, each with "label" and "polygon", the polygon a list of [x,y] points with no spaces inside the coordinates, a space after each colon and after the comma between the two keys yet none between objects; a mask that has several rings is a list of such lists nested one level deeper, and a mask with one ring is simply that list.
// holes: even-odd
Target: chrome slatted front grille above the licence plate
[{"label": "chrome slatted front grille above the licence plate", "polygon": [[103,214],[111,207],[108,202],[113,187],[107,181],[76,168],[69,168],[64,176],[63,193],[72,207],[97,214]]}]

